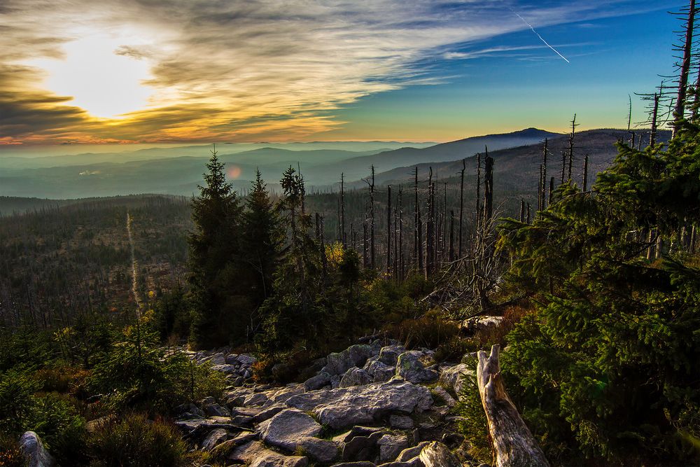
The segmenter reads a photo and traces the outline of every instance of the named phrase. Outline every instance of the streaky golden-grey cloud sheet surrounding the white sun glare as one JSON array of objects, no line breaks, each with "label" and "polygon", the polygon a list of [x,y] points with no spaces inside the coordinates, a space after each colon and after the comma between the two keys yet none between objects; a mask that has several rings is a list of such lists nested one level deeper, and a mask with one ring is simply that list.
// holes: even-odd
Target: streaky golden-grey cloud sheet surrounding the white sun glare
[{"label": "streaky golden-grey cloud sheet surrounding the white sun glare", "polygon": [[[657,8],[652,1],[4,0],[0,141],[300,139],[343,124],[361,97],[449,79],[427,63],[530,50],[465,46],[526,27]],[[38,27],[37,25],[41,25]],[[144,60],[145,109],[94,118],[45,89],[38,59],[112,34]],[[458,51],[457,51],[458,50]],[[109,92],[109,91],[108,91]]]}]

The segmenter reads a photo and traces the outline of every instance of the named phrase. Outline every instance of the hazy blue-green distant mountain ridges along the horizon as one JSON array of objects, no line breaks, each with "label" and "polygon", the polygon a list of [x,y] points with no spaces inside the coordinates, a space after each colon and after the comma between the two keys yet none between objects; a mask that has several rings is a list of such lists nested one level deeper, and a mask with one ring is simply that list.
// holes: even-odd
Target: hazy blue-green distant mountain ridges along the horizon
[{"label": "hazy blue-green distant mountain ridges along the horizon", "polygon": [[[670,137],[661,132],[659,141]],[[496,195],[526,192],[536,185],[542,157],[542,141],[549,139],[548,176],[560,177],[561,153],[568,147],[563,134],[528,128],[519,132],[471,137],[443,144],[397,148],[398,143],[337,142],[274,145],[234,151],[235,145],[217,146],[226,162],[230,181],[245,191],[259,168],[272,190],[279,189],[281,173],[299,165],[309,190],[335,190],[344,173],[347,186],[365,187],[361,181],[374,165],[377,185],[406,184],[414,167],[425,179],[430,167],[435,179],[455,179],[461,160],[467,158],[468,181],[475,172],[475,153],[495,158]],[[629,139],[623,130],[589,130],[575,139],[575,179],[580,178],[582,158],[589,154],[589,174],[607,167],[615,156],[615,141]],[[239,146],[236,146],[239,148]],[[153,148],[127,153],[52,156],[52,158],[0,158],[0,196],[78,198],[160,193],[192,195],[202,183],[211,146]],[[293,148],[294,150],[292,150]],[[349,151],[349,148],[355,151]],[[115,159],[114,154],[119,158]],[[176,157],[172,157],[176,155]],[[19,160],[24,160],[21,165]],[[8,162],[9,161],[9,162]],[[76,163],[81,161],[81,163]],[[97,161],[97,162],[96,162]],[[55,165],[50,165],[56,162]],[[534,190],[534,188],[532,188]]]}]

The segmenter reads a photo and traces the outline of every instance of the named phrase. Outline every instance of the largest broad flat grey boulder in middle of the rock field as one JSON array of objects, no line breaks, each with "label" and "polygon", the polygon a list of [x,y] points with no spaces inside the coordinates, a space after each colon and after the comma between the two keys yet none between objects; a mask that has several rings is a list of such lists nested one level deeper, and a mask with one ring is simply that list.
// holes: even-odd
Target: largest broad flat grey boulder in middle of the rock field
[{"label": "largest broad flat grey boulder in middle of the rock field", "polygon": [[372,423],[388,412],[422,412],[433,405],[433,396],[424,386],[385,382],[307,392],[289,398],[286,404],[313,410],[318,421],[336,430]]}]

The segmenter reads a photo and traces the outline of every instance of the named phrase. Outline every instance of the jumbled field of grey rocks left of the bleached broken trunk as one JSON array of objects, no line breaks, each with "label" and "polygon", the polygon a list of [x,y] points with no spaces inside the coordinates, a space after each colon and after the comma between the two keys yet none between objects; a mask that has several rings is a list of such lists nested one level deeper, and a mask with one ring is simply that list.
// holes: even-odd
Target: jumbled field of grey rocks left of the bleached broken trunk
[{"label": "jumbled field of grey rocks left of the bleached broken trunk", "polygon": [[[250,355],[190,352],[225,372],[223,400],[179,407],[183,436],[224,465],[471,466],[456,431],[466,365],[437,365],[427,349],[356,344],[314,363],[304,383],[253,384]],[[476,464],[473,464],[476,465]]]}]

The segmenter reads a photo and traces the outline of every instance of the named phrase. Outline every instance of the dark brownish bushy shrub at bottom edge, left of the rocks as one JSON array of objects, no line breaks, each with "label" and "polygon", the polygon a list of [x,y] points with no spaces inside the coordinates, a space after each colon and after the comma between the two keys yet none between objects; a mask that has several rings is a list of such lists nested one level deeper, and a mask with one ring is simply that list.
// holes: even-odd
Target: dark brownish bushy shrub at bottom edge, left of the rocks
[{"label": "dark brownish bushy shrub at bottom edge, left of the rocks", "polygon": [[96,467],[174,467],[186,465],[187,445],[172,424],[127,412],[120,421],[99,424],[87,451]]}]

